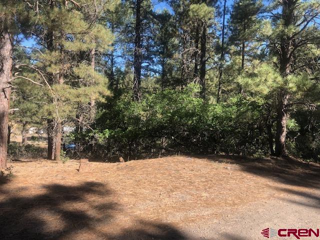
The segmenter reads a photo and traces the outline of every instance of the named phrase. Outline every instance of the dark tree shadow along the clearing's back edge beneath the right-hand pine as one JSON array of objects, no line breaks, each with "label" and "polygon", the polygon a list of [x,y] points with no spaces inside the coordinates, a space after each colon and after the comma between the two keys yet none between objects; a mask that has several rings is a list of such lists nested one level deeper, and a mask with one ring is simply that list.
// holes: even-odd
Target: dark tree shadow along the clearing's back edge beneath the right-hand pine
[{"label": "dark tree shadow along the clearing's back edge beneath the right-hand pine", "polygon": [[[198,158],[198,156],[190,157]],[[209,155],[199,156],[199,158],[237,164],[243,171],[287,185],[320,188],[320,167],[317,164],[306,164],[290,157],[253,158],[235,155]]]}]

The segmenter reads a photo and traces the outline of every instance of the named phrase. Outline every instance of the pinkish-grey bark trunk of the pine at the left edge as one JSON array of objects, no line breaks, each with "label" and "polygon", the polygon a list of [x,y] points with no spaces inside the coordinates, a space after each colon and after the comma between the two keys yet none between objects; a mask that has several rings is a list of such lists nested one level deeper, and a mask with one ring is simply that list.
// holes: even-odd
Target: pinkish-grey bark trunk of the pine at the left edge
[{"label": "pinkish-grey bark trunk of the pine at the left edge", "polygon": [[0,32],[0,168],[6,168],[11,69],[11,36],[7,30],[2,30]]}]

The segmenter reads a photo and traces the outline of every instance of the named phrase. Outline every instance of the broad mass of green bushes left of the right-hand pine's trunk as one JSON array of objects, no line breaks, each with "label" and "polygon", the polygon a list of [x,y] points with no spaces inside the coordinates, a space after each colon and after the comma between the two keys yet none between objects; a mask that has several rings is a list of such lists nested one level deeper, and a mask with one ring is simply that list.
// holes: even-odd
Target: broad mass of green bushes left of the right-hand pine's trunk
[{"label": "broad mass of green bushes left of the right-hand pine's trunk", "polygon": [[[146,94],[140,102],[128,97],[101,106],[87,139],[99,155],[143,153],[266,154],[263,107],[241,96],[208,104],[198,87]],[[95,139],[95,140],[93,140]],[[92,150],[92,149],[91,149]]]}]

